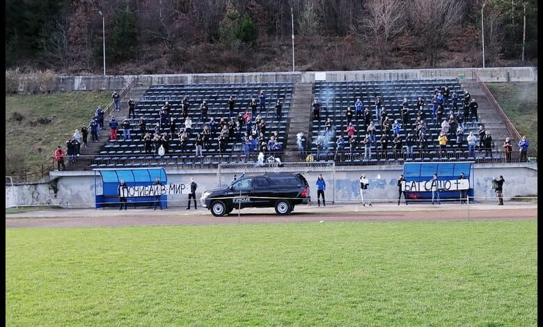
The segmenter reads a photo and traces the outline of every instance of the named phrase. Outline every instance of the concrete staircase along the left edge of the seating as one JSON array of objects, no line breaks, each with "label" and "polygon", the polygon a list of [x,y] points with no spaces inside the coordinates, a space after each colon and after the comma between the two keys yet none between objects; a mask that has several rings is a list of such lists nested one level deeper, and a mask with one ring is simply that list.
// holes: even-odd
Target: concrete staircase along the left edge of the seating
[{"label": "concrete staircase along the left edge of the seating", "polygon": [[[115,119],[119,122],[119,128],[120,128],[120,122],[123,121],[123,119],[128,117],[128,100],[130,97],[134,99],[136,102],[136,107],[138,102],[141,100],[141,97],[143,97],[143,94],[145,94],[145,91],[148,89],[148,86],[135,86],[134,88],[129,90],[129,93],[120,100],[120,111],[111,111],[110,115],[115,116]],[[113,105],[112,105],[113,106]],[[89,117],[88,120],[91,121],[92,117]],[[81,146],[81,156],[77,159],[75,163],[70,164],[69,166],[66,166],[66,169],[69,170],[88,170],[90,169],[88,166],[93,162],[93,157],[100,154],[100,151],[104,149],[104,145],[106,145],[109,142],[109,119],[110,116],[106,115],[104,116],[104,125],[102,129],[100,130],[100,136],[98,136],[98,142],[93,142],[91,137],[91,130],[88,131],[88,138],[87,138],[87,144],[88,147]],[[139,118],[138,118],[139,119]]]}]

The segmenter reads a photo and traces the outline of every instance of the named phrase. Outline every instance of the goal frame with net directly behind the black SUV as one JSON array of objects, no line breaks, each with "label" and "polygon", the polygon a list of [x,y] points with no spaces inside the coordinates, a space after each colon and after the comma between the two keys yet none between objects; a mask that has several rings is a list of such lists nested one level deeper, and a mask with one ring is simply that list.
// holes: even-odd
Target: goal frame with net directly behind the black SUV
[{"label": "goal frame with net directly behind the black SUV", "polygon": [[331,197],[334,204],[336,198],[336,163],[334,161],[317,162],[283,162],[283,163],[219,163],[217,182],[219,187],[226,187],[233,175],[245,174],[255,176],[264,173],[301,173],[309,184],[311,198],[317,198],[315,181],[319,174],[326,182],[326,198]]}]

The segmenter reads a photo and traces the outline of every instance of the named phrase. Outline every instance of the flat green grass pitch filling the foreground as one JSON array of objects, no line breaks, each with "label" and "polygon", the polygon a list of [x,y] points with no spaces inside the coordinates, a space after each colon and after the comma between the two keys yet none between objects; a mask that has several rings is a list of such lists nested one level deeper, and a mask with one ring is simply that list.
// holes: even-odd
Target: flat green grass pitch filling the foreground
[{"label": "flat green grass pitch filling the foreground", "polygon": [[6,326],[536,326],[537,221],[6,229]]}]

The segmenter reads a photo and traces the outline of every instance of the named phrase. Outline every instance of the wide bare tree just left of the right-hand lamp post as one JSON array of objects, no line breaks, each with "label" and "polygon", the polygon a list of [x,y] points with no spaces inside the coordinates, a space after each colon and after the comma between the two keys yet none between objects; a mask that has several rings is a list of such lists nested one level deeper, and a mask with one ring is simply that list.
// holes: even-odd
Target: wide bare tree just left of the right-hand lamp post
[{"label": "wide bare tree just left of the right-hand lamp post", "polygon": [[464,0],[412,0],[407,8],[411,31],[420,39],[430,67],[434,67],[439,49],[462,22]]}]

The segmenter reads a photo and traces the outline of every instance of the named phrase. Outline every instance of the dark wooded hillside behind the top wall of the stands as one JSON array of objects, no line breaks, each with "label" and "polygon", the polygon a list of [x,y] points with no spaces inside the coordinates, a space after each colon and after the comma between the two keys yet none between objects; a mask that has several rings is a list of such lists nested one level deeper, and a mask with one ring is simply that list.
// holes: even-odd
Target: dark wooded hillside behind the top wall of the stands
[{"label": "dark wooded hillside behind the top wall of the stands", "polygon": [[296,70],[482,67],[482,12],[487,67],[537,66],[535,0],[7,0],[6,69],[101,74],[102,17],[107,74],[292,70],[292,24]]}]

